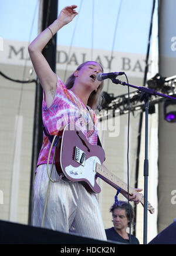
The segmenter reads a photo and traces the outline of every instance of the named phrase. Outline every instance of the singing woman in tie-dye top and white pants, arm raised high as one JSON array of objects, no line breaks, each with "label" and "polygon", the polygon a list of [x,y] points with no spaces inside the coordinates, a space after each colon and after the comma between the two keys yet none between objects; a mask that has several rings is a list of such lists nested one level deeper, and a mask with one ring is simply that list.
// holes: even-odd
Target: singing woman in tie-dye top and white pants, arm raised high
[{"label": "singing woman in tie-dye top and white pants, arm raised high", "polygon": [[[67,78],[66,84],[63,84],[42,55],[42,50],[50,38],[76,17],[76,7],[72,5],[62,9],[56,21],[33,40],[28,50],[43,88],[42,117],[47,132],[55,135],[60,127],[68,122],[75,123],[89,143],[97,145],[97,118],[94,109],[100,103],[103,83],[98,81],[96,76],[99,72],[103,72],[103,68],[99,63],[87,61],[77,67],[72,76]],[[87,124],[89,124],[89,129],[86,129]],[[49,182],[47,172],[49,150],[50,141],[45,135],[39,153],[34,183],[33,225],[38,227],[42,224]],[[49,166],[52,164],[52,159],[53,150]],[[53,165],[52,178],[59,179],[55,165]],[[136,190],[141,191],[141,189]],[[127,193],[123,192],[123,195],[127,198]],[[138,204],[140,202],[138,193],[130,196],[130,201]],[[81,183],[70,182],[66,179],[50,184],[43,227],[61,232],[74,229],[80,235],[106,240],[96,196],[87,192]]]}]

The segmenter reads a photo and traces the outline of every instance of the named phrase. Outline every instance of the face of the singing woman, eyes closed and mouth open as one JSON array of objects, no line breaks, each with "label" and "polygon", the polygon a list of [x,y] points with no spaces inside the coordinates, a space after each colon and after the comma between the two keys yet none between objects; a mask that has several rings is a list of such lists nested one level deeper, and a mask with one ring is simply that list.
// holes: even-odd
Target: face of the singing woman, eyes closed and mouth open
[{"label": "face of the singing woman, eyes closed and mouth open", "polygon": [[90,61],[84,64],[80,70],[76,70],[75,76],[80,83],[89,85],[93,91],[101,84],[96,78],[97,74],[101,72],[103,72],[101,66],[94,61]]}]

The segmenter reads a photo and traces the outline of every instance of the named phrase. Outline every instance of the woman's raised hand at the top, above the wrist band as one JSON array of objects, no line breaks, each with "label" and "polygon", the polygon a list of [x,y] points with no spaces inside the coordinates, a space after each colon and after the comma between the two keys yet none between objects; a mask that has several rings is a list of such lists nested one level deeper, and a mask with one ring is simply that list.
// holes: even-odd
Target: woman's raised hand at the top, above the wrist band
[{"label": "woman's raised hand at the top, above the wrist band", "polygon": [[59,17],[57,18],[57,21],[60,21],[63,25],[68,24],[78,14],[75,11],[76,7],[77,5],[71,5],[63,8],[59,14]]}]

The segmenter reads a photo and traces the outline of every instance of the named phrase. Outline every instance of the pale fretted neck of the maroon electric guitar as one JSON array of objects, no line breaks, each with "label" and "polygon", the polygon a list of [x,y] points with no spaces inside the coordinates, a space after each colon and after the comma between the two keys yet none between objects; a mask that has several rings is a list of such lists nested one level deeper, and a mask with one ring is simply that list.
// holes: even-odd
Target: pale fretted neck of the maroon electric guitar
[{"label": "pale fretted neck of the maroon electric guitar", "polygon": [[126,192],[129,191],[130,195],[136,192],[134,188],[131,188],[130,186],[127,185],[127,183],[123,182],[123,180],[119,179],[116,175],[111,173],[104,165],[96,163],[96,173],[97,176],[100,176],[101,179],[109,183],[115,189],[118,189],[120,187]]}]

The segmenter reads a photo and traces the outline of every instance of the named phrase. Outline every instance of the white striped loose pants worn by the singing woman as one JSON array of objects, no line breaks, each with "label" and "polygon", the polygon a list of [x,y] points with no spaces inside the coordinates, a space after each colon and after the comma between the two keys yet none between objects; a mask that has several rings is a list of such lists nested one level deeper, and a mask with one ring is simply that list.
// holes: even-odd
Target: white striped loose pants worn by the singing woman
[{"label": "white striped loose pants worn by the singing woman", "polygon": [[[53,165],[52,179],[58,178]],[[47,165],[40,165],[34,182],[33,226],[36,227],[42,225],[48,182]],[[87,192],[79,182],[50,182],[43,228],[60,232],[73,229],[79,235],[106,240],[96,196]]]}]

